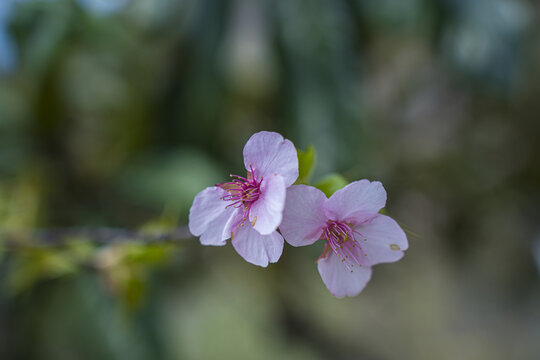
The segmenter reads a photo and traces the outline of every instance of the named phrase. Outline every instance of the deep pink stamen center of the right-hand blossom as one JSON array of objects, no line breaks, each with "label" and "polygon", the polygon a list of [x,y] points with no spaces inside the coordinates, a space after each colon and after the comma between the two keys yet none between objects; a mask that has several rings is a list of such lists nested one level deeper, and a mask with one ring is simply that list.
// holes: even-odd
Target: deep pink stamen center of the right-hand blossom
[{"label": "deep pink stamen center of the right-hand blossom", "polygon": [[[353,271],[355,265],[362,266],[361,257],[366,256],[356,240],[355,234],[361,236],[350,225],[335,220],[329,220],[323,231],[323,236],[326,238],[326,246],[330,247],[334,254],[351,271]],[[327,250],[327,247],[325,247],[325,250]]]}]

